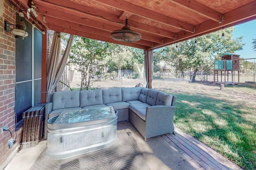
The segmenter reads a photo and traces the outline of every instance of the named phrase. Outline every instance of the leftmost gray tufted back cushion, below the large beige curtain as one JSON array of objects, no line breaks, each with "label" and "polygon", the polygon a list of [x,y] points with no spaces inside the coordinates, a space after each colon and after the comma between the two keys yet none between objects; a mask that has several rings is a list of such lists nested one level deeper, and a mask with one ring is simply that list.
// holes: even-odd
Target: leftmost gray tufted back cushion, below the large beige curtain
[{"label": "leftmost gray tufted back cushion, below the large beige curtain", "polygon": [[52,109],[79,107],[79,91],[54,92],[52,94]]}]

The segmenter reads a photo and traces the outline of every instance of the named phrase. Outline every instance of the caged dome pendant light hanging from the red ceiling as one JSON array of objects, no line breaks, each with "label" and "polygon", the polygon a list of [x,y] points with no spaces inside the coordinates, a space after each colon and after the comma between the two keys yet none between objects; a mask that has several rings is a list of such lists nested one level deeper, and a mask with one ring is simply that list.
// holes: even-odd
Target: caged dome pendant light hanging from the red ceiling
[{"label": "caged dome pendant light hanging from the red ceiling", "polygon": [[132,31],[130,29],[130,25],[128,24],[128,14],[126,14],[125,19],[125,25],[122,27],[122,29],[118,29],[116,31],[113,31],[110,36],[112,39],[116,41],[122,41],[122,42],[136,42],[141,39],[140,33],[137,31]]}]

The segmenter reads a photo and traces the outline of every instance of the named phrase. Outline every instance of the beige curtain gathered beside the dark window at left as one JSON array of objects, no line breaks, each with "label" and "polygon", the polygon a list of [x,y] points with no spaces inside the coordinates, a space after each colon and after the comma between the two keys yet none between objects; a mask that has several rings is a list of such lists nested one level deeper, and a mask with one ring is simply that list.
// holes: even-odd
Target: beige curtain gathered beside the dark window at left
[{"label": "beige curtain gathered beside the dark window at left", "polygon": [[70,53],[70,49],[72,46],[72,41],[74,39],[74,35],[70,35],[68,44],[66,45],[66,49],[64,54],[60,59],[60,42],[61,42],[61,33],[54,32],[54,37],[52,39],[52,47],[50,51],[48,66],[47,66],[47,94],[46,94],[46,103],[52,101],[52,91],[57,86],[63,70],[68,61],[68,56]]}]

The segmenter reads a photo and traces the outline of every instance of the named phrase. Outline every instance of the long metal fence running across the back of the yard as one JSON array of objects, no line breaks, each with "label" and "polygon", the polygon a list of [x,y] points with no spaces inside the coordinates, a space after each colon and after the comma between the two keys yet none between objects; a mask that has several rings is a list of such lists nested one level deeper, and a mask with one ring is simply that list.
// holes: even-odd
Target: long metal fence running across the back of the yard
[{"label": "long metal fence running across the back of the yard", "polygon": [[[153,74],[153,84],[154,80],[161,81],[162,83],[168,82],[189,82],[190,74],[181,73],[154,73]],[[220,80],[222,78],[222,80]],[[224,81],[224,75],[218,75],[218,81]],[[231,81],[232,75],[226,75],[226,81]],[[214,77],[212,74],[198,74],[195,77],[196,81],[207,81],[213,82]],[[255,74],[239,74],[240,83],[254,83],[256,80]],[[71,88],[80,88],[81,74],[70,74],[69,84]],[[238,74],[233,74],[233,82],[238,82]],[[92,87],[94,88],[105,88],[105,87],[124,87],[124,86],[136,86],[136,84],[141,83],[146,86],[145,77],[140,77],[139,73],[122,73],[120,76],[118,74],[105,73],[102,75],[94,76],[92,78]]]}]

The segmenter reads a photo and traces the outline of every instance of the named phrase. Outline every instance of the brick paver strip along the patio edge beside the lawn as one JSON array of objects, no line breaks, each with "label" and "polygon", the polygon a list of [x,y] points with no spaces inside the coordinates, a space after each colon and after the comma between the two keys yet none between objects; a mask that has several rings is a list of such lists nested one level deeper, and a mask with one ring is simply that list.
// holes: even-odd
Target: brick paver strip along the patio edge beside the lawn
[{"label": "brick paver strip along the patio edge beside the lawn", "polygon": [[198,139],[175,128],[175,135],[167,133],[162,137],[198,170],[243,170]]}]

